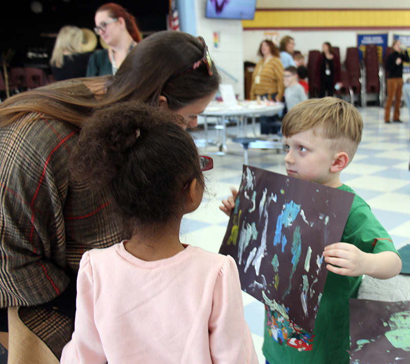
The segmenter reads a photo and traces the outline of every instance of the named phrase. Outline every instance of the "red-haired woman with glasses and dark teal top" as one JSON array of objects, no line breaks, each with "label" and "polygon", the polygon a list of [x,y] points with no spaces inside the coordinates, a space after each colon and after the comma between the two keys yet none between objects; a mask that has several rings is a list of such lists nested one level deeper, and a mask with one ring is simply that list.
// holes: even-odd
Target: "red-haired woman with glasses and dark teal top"
[{"label": "red-haired woman with glasses and dark teal top", "polygon": [[94,31],[103,38],[108,49],[91,55],[87,77],[115,75],[127,54],[141,40],[141,34],[134,16],[118,4],[101,5],[94,19]]}]

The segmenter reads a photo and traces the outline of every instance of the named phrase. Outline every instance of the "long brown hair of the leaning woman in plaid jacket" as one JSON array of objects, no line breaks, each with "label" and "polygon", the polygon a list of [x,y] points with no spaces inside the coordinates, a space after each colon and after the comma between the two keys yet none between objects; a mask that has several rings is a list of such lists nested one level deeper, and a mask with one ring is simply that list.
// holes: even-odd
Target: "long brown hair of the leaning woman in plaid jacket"
[{"label": "long brown hair of the leaning woman in plaid jacket", "polygon": [[218,90],[220,77],[213,62],[213,75],[202,65],[171,77],[203,53],[202,43],[190,34],[152,34],[131,50],[115,76],[55,82],[5,100],[0,104],[0,126],[31,112],[81,126],[95,110],[114,102],[134,99],[158,106],[160,95],[167,98],[170,110],[178,110]]}]

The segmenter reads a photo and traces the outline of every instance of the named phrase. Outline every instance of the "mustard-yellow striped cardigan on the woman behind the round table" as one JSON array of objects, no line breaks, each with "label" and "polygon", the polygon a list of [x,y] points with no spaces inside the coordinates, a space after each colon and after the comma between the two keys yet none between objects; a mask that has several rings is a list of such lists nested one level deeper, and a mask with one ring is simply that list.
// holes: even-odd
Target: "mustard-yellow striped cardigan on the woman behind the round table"
[{"label": "mustard-yellow striped cardigan on the woman behind the round table", "polygon": [[[255,83],[255,77],[258,74],[260,74],[260,82],[257,84]],[[282,100],[283,90],[283,66],[280,58],[272,57],[266,63],[262,58],[257,63],[252,75],[251,100],[255,100],[257,95],[275,93],[277,93],[277,98]]]}]

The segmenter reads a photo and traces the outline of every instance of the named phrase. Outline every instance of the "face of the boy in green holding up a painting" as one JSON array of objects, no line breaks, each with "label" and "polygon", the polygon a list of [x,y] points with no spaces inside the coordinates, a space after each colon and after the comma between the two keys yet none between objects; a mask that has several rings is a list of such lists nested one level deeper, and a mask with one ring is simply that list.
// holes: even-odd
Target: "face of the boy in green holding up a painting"
[{"label": "face of the boy in green holding up a painting", "polygon": [[285,166],[288,176],[330,187],[339,187],[338,174],[331,172],[334,153],[329,140],[314,135],[312,130],[284,137]]}]

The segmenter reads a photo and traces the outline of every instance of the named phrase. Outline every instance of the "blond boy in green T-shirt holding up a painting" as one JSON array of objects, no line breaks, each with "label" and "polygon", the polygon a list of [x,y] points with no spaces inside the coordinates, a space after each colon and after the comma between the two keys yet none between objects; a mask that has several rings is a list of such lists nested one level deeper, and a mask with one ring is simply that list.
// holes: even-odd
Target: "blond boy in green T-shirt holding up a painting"
[{"label": "blond boy in green T-shirt holding up a painting", "polygon": [[[282,122],[288,176],[355,193],[339,176],[356,153],[362,129],[359,112],[341,99],[299,103]],[[220,207],[228,215],[235,206],[237,192],[232,193]],[[349,298],[357,297],[363,274],[388,279],[401,270],[391,237],[356,194],[341,242],[326,246],[323,256],[329,272],[313,335],[265,306],[263,354],[267,363],[348,364]],[[288,340],[277,342],[271,337],[269,322],[279,323],[278,329]]]}]

